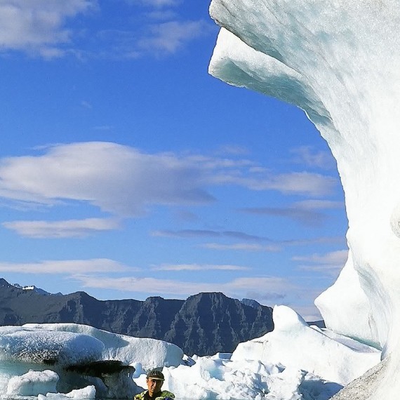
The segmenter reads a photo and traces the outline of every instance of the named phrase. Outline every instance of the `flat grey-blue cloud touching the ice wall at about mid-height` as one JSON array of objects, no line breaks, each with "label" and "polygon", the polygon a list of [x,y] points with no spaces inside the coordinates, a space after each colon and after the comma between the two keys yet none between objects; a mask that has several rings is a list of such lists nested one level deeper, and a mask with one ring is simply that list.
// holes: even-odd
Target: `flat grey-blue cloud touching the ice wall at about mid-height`
[{"label": "flat grey-blue cloud touching the ice wall at about mid-height", "polygon": [[342,201],[305,200],[298,201],[288,207],[258,207],[242,208],[241,211],[258,215],[273,215],[294,220],[301,225],[321,226],[328,219],[328,215],[320,210],[344,208]]}]

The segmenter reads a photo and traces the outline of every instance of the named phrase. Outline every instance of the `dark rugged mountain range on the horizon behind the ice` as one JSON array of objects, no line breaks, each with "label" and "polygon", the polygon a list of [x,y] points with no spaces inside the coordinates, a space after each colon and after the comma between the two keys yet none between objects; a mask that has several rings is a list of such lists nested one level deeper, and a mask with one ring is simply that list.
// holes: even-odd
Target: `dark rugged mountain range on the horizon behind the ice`
[{"label": "dark rugged mountain range on the horizon behind the ice", "polygon": [[233,352],[272,331],[272,308],[255,300],[199,293],[187,300],[98,300],[83,291],[51,295],[0,279],[0,326],[74,323],[136,338],[166,340],[185,354]]}]

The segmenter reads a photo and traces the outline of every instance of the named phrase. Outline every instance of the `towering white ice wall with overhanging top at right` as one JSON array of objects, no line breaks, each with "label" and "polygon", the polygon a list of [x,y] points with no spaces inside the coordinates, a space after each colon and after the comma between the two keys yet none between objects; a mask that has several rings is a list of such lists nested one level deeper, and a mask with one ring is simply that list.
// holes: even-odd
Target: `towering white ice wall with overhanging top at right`
[{"label": "towering white ice wall with overhanging top at right", "polygon": [[[213,0],[209,72],[304,109],[345,191],[349,260],[316,299],[326,324],[392,354],[370,399],[400,392],[398,0]],[[345,305],[345,307],[344,307]]]}]

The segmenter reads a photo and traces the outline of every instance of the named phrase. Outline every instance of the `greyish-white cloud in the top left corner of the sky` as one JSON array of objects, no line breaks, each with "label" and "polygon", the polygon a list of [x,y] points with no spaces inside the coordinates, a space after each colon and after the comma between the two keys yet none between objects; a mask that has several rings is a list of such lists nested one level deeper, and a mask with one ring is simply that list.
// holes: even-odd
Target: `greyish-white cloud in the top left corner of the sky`
[{"label": "greyish-white cloud in the top left corner of the sky", "polygon": [[96,6],[95,0],[0,0],[0,48],[47,58],[62,55],[60,44],[71,40],[67,18]]}]

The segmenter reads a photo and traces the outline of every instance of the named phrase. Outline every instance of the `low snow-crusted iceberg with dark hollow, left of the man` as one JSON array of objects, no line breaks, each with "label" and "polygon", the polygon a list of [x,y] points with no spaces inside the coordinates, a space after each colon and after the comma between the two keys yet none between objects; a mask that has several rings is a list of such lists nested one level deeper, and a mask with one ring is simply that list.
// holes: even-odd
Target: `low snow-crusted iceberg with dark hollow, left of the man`
[{"label": "low snow-crusted iceberg with dark hollow, left of the man", "polygon": [[141,391],[135,369],[179,366],[182,358],[171,343],[91,326],[0,326],[0,396],[131,399]]}]

